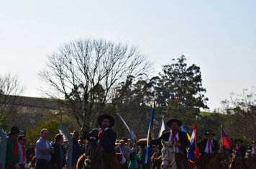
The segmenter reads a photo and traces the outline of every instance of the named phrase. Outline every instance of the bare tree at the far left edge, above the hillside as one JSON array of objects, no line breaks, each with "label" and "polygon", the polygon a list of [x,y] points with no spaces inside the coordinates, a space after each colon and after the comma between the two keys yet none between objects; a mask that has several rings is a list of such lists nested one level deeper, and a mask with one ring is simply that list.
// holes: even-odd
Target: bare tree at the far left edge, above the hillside
[{"label": "bare tree at the far left edge, above the hillside", "polygon": [[14,122],[17,107],[22,102],[22,93],[26,86],[22,85],[17,74],[6,73],[0,75],[0,125],[8,127],[8,120]]}]

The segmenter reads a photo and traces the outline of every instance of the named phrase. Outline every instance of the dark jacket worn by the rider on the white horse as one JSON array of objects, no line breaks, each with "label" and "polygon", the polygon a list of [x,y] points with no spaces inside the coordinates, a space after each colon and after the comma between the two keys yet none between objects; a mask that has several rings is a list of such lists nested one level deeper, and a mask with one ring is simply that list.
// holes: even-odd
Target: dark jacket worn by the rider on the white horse
[{"label": "dark jacket worn by the rider on the white horse", "polygon": [[[152,145],[161,145],[161,140],[168,141],[170,137],[170,131],[164,132],[157,140],[152,140]],[[178,142],[181,144],[180,152],[187,157],[187,150],[191,146],[191,143],[188,140],[188,136],[186,132],[178,130]]]}]

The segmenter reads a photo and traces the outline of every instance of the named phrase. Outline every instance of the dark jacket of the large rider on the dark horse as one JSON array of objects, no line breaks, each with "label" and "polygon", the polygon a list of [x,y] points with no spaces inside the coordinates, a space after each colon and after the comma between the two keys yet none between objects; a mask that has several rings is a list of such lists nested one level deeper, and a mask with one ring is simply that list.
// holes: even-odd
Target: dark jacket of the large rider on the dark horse
[{"label": "dark jacket of the large rider on the dark horse", "polygon": [[[98,135],[100,130],[101,128],[93,129],[89,134],[84,132],[83,138],[87,139],[90,143],[92,143],[93,141],[89,137],[95,137],[96,138],[95,141],[98,141],[99,140]],[[115,157],[116,156],[116,151],[114,150],[115,143],[116,143],[116,132],[114,132],[109,128],[102,135],[101,142],[100,142],[101,148],[104,148],[106,153],[108,153],[112,157]]]}]

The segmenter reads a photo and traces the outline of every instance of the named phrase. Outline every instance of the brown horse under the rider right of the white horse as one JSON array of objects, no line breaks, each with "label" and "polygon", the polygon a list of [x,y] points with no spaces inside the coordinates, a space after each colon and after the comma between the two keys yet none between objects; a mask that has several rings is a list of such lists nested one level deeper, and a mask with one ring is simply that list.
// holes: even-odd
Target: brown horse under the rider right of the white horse
[{"label": "brown horse under the rider right of the white horse", "polygon": [[225,159],[223,150],[218,150],[218,152],[216,154],[212,155],[212,157],[209,157],[209,158],[211,158],[211,159],[206,163],[206,165],[204,165],[204,167],[201,166],[201,165],[196,164],[196,168],[198,168],[198,169],[203,169],[203,168],[216,169],[216,168],[219,168],[219,165],[221,164],[221,160]]}]

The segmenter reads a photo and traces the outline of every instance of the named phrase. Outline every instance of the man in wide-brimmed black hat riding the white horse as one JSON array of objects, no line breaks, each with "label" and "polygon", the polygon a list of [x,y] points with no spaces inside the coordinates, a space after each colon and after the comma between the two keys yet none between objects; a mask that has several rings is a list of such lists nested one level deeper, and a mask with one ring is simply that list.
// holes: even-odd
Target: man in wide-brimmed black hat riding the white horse
[{"label": "man in wide-brimmed black hat riding the white horse", "polygon": [[188,140],[186,132],[178,130],[178,127],[182,125],[182,122],[177,119],[172,119],[167,122],[167,125],[171,127],[171,130],[168,132],[163,132],[163,134],[157,138],[157,140],[152,140],[152,145],[161,145],[161,140],[172,142],[175,141],[174,151],[177,153],[178,158],[181,160],[180,164],[184,165],[184,168],[191,168],[188,163],[187,150],[191,143]]}]

